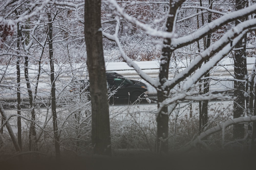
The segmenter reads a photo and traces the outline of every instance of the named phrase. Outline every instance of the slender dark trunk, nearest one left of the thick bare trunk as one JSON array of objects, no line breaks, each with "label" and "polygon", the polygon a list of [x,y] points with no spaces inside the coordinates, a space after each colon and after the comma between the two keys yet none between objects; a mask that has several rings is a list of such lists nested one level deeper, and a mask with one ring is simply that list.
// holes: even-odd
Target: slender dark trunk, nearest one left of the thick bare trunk
[{"label": "slender dark trunk, nearest one left of the thick bare trunk", "polygon": [[54,144],[55,144],[55,154],[56,160],[60,160],[60,137],[58,132],[58,119],[56,112],[56,87],[55,87],[55,76],[54,76],[54,56],[53,56],[53,46],[52,46],[52,18],[51,12],[48,12],[48,41],[49,41],[49,59],[50,59],[50,77],[51,77],[51,112],[52,112],[52,124],[53,124],[53,132],[54,132]]}]

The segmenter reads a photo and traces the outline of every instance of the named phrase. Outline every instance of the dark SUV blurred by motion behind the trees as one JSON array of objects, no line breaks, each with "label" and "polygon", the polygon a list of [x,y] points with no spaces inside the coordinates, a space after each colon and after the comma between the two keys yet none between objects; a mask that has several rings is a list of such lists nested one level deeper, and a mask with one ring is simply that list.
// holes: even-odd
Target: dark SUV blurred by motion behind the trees
[{"label": "dark SUV blurred by motion behind the trees", "polygon": [[[130,80],[122,75],[116,73],[116,72],[106,72],[108,87],[109,87],[109,95],[110,102],[114,101],[129,101],[135,102],[138,97],[141,98],[144,97],[145,92],[147,91],[147,86],[136,80]],[[88,86],[89,80],[80,80],[80,91],[89,91]],[[85,87],[88,87],[88,89],[84,89]],[[77,88],[73,88],[70,91],[77,90]]]}]

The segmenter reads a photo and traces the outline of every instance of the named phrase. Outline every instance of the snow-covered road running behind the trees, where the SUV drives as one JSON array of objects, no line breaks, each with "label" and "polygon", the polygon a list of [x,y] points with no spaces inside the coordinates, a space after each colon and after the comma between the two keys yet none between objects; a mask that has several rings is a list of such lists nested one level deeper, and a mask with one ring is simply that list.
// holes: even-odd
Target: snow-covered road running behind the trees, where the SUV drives
[{"label": "snow-covered road running behind the trees, where the SUV drives", "polygon": [[[253,65],[254,65],[254,60],[255,58],[247,58],[247,67],[248,67],[248,72],[250,73]],[[232,66],[232,59],[223,59],[218,66],[216,66],[214,71],[211,71],[210,76],[213,77],[218,77],[225,79],[227,77],[232,78],[230,75],[233,74],[233,66]],[[150,75],[152,78],[156,78],[158,76],[159,72],[159,61],[137,61],[135,62],[145,73]],[[189,64],[189,63],[187,63]],[[176,65],[176,67],[170,65],[170,73],[169,73],[169,79],[172,79],[174,77],[173,71],[175,71],[177,68],[182,71],[186,68],[186,63],[180,62]],[[9,76],[7,77],[10,82],[16,79],[16,67],[15,66],[10,66],[10,68],[4,68],[5,66],[0,66],[3,68],[3,70],[6,69],[8,72]],[[77,66],[78,67],[78,66]],[[79,65],[79,67],[81,67]],[[44,65],[44,69],[47,70],[48,65]],[[63,70],[65,68],[62,68]],[[173,71],[172,71],[173,70]],[[37,75],[37,66],[30,66],[29,69],[29,74],[31,76],[31,80],[35,80],[35,77]],[[149,96],[156,96],[156,89],[153,88],[149,83],[145,82],[140,78],[140,76],[135,72],[135,70],[127,65],[125,62],[109,62],[106,63],[106,71],[114,71],[117,73],[120,73],[121,75],[127,77],[128,79],[133,79],[133,80],[139,80],[144,82],[148,86],[148,91],[150,93]],[[179,71],[179,72],[180,72]],[[21,73],[24,75],[24,73]],[[50,80],[49,77],[47,77],[48,74],[45,72],[44,74],[41,75],[41,79],[38,84],[38,98],[47,98],[50,96]],[[33,79],[34,77],[34,79]],[[25,77],[22,77],[22,83],[21,83],[21,98],[23,100],[28,99],[27,95],[27,90],[26,90],[26,83],[24,81]],[[56,84],[63,84],[63,82],[67,83],[70,82],[71,80],[70,77],[68,78],[66,75],[59,76],[60,80],[56,81]],[[12,82],[14,83],[14,82]],[[11,84],[11,83],[10,83]],[[31,83],[32,89],[33,84],[35,82]],[[16,100],[16,89],[14,85],[8,85],[8,84],[0,84],[0,87],[2,87],[2,93],[0,95],[0,101],[1,100],[9,100],[9,101],[15,101]],[[231,81],[220,81],[215,83],[212,81],[211,85],[211,90],[216,90],[216,89],[225,89],[229,88],[231,89],[233,87],[233,84]],[[58,89],[61,90],[61,89]],[[58,95],[58,94],[57,94]]]}]

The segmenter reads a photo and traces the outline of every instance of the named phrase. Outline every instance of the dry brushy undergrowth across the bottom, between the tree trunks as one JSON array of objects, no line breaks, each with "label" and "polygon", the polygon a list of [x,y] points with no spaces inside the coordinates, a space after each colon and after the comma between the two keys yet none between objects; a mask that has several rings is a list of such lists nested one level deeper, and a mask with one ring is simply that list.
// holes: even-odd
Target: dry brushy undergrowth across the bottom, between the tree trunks
[{"label": "dry brushy undergrowth across the bottom, between the tree trunks", "polygon": [[[154,107],[153,107],[154,106]],[[145,109],[143,104],[132,104],[128,106],[114,107],[110,105],[110,128],[111,147],[114,156],[123,155],[128,150],[141,150],[155,154],[156,150],[156,105]],[[40,119],[47,116],[46,109],[37,109]],[[26,110],[24,115],[26,115]],[[72,113],[72,114],[70,114]],[[230,103],[211,102],[209,105],[208,126],[202,130],[217,126],[232,118],[232,106]],[[40,115],[40,116],[39,116]],[[61,108],[58,110],[59,127],[61,130],[61,156],[63,158],[76,158],[81,155],[92,155],[91,146],[91,116],[87,109]],[[39,139],[33,144],[34,152],[28,149],[28,122],[24,122],[22,151],[25,158],[49,158],[54,159],[54,138],[51,119],[42,129],[43,122],[38,120],[40,128],[37,127]],[[16,120],[13,118],[9,123],[16,128]],[[244,126],[247,132],[247,125]],[[224,133],[224,135],[223,135]],[[198,103],[187,106],[180,104],[179,110],[169,117],[168,148],[169,153],[176,152],[189,142],[196,139],[199,132],[199,112]],[[12,144],[6,129],[0,135],[0,159],[16,158],[17,153]],[[223,138],[224,137],[224,138]],[[201,151],[232,150],[239,148],[246,150],[249,148],[250,134],[244,139],[232,139],[232,126],[223,132],[218,132],[202,140],[195,149]],[[142,152],[136,152],[142,154]]]}]

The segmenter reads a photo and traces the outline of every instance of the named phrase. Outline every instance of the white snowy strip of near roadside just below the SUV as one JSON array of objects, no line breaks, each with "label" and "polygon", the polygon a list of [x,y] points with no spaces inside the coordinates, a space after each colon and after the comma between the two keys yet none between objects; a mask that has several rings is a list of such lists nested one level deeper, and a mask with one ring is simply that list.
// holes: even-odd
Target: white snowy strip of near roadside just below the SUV
[{"label": "white snowy strip of near roadside just below the SUV", "polygon": [[[180,103],[180,109],[177,109],[170,115],[170,121],[175,121],[176,114],[178,119],[189,119],[190,112],[192,112],[193,117],[198,116],[198,102],[194,102],[192,104],[192,108],[190,110],[190,106],[187,102]],[[210,101],[209,102],[209,117],[215,117],[217,114],[221,114],[222,116],[231,116],[233,107],[232,101]],[[138,124],[156,125],[155,113],[157,111],[157,104],[133,104],[133,105],[110,105],[109,106],[109,114],[110,121],[133,121]],[[177,113],[178,111],[178,113]],[[11,114],[17,114],[16,110],[5,109],[5,112],[8,116]],[[27,114],[27,110],[22,110],[22,115]],[[68,115],[69,111],[65,109],[58,108],[57,109],[58,117],[63,117],[64,115]],[[61,114],[61,115],[60,115]],[[45,121],[45,117],[47,115],[47,110],[45,108],[40,108],[40,111],[36,114],[36,121],[39,125],[41,125]],[[191,117],[190,117],[191,118]],[[10,118],[9,123],[12,125],[12,129],[14,133],[17,133],[17,119],[16,117]],[[26,127],[26,120],[22,119],[22,127]],[[4,128],[6,130],[6,128]]]}]

